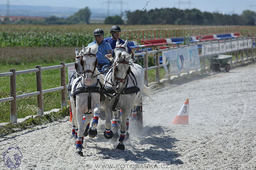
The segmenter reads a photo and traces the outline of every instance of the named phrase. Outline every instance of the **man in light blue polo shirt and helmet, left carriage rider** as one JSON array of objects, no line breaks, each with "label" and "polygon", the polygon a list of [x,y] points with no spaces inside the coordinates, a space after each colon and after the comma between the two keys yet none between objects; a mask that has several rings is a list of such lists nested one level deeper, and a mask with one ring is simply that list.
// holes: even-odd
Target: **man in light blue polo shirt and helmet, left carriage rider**
[{"label": "man in light blue polo shirt and helmet, left carriage rider", "polygon": [[97,28],[94,30],[93,35],[95,37],[95,40],[92,43],[88,44],[87,46],[93,45],[96,43],[98,44],[98,52],[96,54],[96,57],[98,59],[98,67],[99,68],[110,67],[110,62],[106,57],[112,58],[112,53],[111,53],[112,48],[109,43],[103,41],[104,31],[100,28]]}]

